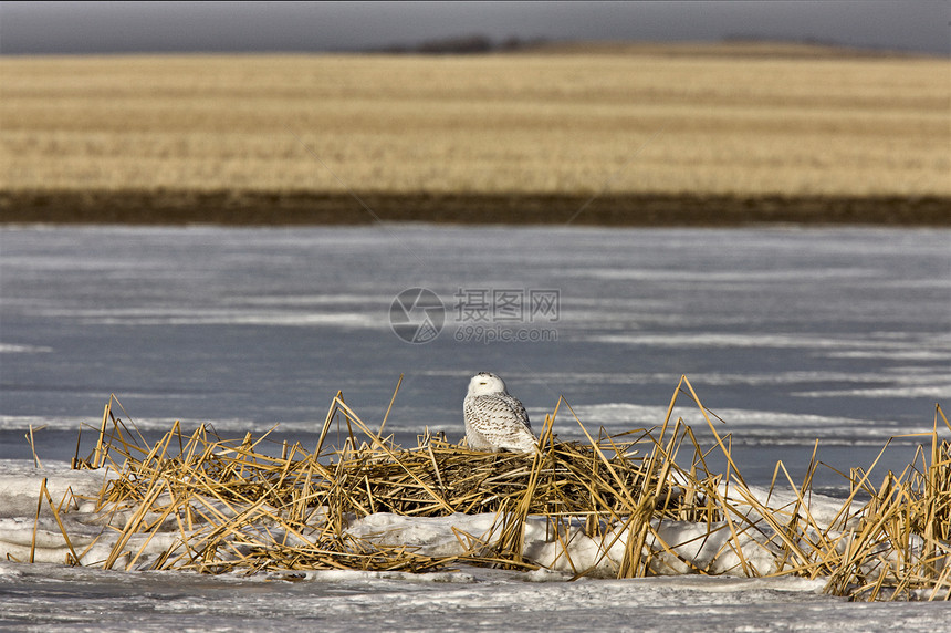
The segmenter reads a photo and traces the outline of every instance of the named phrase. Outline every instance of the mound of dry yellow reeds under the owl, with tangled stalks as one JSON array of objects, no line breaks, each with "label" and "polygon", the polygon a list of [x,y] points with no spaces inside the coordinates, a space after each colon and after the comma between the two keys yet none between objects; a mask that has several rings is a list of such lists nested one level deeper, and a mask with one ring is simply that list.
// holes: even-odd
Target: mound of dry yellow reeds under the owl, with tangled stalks
[{"label": "mound of dry yellow reeds under the owl, with tangled stalks", "polygon": [[[693,430],[673,419],[680,396],[700,407],[715,438],[711,447],[701,448]],[[951,449],[939,440],[939,416],[951,425],[940,407],[930,450],[878,487],[870,473],[854,471],[851,494],[829,518],[811,504],[815,459],[800,485],[780,463],[769,491],[746,486],[729,436],[719,434],[686,377],[666,418],[649,430],[595,438],[578,421],[587,440],[560,442],[555,416],[571,409],[560,401],[545,418],[539,450],[526,455],[473,452],[428,433],[404,449],[383,427],[370,429],[339,393],[313,452],[269,445],[267,434],[228,440],[200,427],[189,435],[178,424],[149,445],[115,417],[112,403],[95,448],[74,467],[105,467],[93,501],[115,540],[105,560],[90,560],[95,542],[83,552],[70,546],[74,563],[208,573],[424,572],[459,562],[536,569],[545,563],[524,550],[525,530],[543,519],[547,542],[575,578],[605,569],[617,578],[671,570],[794,574],[825,579],[828,593],[855,600],[951,600]],[[334,424],[346,439],[327,447]],[[724,473],[708,468],[713,452],[725,457]],[[776,487],[780,476],[790,491]],[[49,495],[46,502],[53,508]],[[494,520],[483,535],[453,528],[458,552],[433,556],[349,530],[377,512],[494,512]],[[584,539],[597,554],[573,560],[573,546]],[[155,547],[147,553],[153,540],[165,546],[161,553]],[[697,548],[709,553],[689,553]]]}]

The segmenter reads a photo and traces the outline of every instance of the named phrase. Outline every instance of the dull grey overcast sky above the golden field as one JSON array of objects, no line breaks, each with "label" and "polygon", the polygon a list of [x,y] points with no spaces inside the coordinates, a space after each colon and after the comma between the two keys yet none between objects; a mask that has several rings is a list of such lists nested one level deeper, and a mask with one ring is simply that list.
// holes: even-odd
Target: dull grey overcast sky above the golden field
[{"label": "dull grey overcast sky above the golden field", "polygon": [[0,2],[0,52],[346,51],[462,35],[812,40],[951,54],[948,0]]}]

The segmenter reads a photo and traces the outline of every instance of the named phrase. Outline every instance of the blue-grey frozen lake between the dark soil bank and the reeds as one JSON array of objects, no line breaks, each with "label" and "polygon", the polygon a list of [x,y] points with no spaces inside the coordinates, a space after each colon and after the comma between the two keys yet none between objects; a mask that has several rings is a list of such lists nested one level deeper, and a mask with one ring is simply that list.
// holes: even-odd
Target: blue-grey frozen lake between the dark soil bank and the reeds
[{"label": "blue-grey frozen lake between the dark soil bank and the reeds", "polygon": [[[949,243],[867,228],[7,228],[0,458],[30,456],[32,424],[41,457],[67,460],[111,393],[143,428],[279,423],[306,446],[337,390],[376,424],[400,374],[387,428],[458,439],[468,378],[492,371],[533,419],[564,395],[612,432],[658,424],[686,374],[748,479],[805,463],[816,438],[821,457],[865,466],[951,395]],[[421,344],[390,326],[414,288],[445,305]],[[555,430],[578,435],[571,416]]]}]

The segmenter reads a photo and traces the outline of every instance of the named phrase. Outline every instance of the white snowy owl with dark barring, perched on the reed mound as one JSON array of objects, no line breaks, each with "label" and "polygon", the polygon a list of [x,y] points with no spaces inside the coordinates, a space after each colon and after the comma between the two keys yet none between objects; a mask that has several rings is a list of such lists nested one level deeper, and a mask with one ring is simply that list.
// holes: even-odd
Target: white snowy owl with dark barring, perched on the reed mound
[{"label": "white snowy owl with dark barring, perched on the reed mound", "polygon": [[495,374],[480,372],[469,381],[462,412],[469,448],[531,453],[535,447],[525,407],[509,395],[505,383]]}]

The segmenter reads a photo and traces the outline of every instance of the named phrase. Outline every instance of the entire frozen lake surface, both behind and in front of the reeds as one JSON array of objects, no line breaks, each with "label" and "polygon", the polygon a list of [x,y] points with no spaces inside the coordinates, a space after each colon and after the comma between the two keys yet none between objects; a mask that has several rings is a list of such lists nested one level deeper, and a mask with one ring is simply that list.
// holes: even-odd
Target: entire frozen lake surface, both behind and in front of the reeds
[{"label": "entire frozen lake surface, both behind and in front of the reeds", "polygon": [[[468,380],[492,371],[534,421],[563,395],[610,432],[659,424],[686,374],[751,484],[777,459],[801,473],[816,438],[819,459],[865,467],[888,437],[930,430],[951,395],[949,245],[949,230],[884,228],[4,228],[0,460],[30,458],[30,425],[41,459],[67,460],[111,393],[155,435],[174,419],[222,436],[280,424],[275,438],[309,446],[337,390],[376,425],[400,374],[388,432],[458,440]],[[395,331],[410,289],[442,308],[409,310]],[[564,412],[555,432],[579,435]],[[916,445],[897,439],[886,466]],[[844,481],[822,470],[818,485]],[[934,631],[951,616],[846,605],[788,579],[344,575],[4,562],[0,624]]]}]

